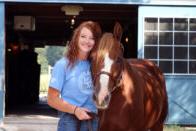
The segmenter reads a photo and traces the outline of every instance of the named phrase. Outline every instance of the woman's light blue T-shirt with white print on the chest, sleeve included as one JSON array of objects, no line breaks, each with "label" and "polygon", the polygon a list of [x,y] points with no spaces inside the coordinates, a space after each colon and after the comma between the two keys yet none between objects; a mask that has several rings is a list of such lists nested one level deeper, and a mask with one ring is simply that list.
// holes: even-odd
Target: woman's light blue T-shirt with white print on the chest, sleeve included
[{"label": "woman's light blue T-shirt with white print on the chest, sleeve included", "polygon": [[92,99],[93,83],[88,60],[78,60],[73,68],[68,67],[66,57],[58,60],[49,87],[57,89],[66,102],[97,113]]}]

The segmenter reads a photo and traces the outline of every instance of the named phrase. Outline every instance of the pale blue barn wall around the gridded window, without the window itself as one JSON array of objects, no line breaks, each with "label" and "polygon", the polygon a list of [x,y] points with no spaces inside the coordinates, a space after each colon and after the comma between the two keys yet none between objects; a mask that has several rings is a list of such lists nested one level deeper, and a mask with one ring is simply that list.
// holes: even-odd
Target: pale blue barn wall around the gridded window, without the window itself
[{"label": "pale blue barn wall around the gridded window, without the window itself", "polygon": [[[144,58],[144,18],[196,18],[195,7],[140,6],[138,57]],[[196,75],[165,74],[169,100],[167,124],[196,125]]]}]

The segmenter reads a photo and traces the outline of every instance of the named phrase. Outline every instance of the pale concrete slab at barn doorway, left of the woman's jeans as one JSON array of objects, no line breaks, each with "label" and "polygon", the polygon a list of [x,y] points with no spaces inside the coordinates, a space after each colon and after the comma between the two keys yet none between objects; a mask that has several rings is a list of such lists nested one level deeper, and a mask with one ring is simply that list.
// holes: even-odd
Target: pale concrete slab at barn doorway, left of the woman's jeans
[{"label": "pale concrete slab at barn doorway, left of the woman's jeans", "polygon": [[56,131],[57,117],[44,115],[9,115],[4,118],[0,131]]}]

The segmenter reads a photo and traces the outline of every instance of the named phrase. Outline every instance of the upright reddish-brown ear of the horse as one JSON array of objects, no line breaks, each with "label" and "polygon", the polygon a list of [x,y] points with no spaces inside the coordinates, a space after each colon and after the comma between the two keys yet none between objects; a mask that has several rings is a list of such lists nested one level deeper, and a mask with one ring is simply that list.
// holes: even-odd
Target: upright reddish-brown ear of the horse
[{"label": "upright reddish-brown ear of the horse", "polygon": [[115,25],[114,25],[113,34],[114,34],[114,37],[115,37],[118,41],[121,40],[122,33],[123,33],[122,26],[120,25],[119,22],[116,22]]}]

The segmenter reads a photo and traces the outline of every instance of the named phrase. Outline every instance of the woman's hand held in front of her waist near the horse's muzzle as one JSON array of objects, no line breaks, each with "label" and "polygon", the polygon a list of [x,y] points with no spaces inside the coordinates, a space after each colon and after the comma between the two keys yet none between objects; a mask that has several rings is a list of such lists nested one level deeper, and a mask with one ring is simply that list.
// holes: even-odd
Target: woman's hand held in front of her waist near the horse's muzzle
[{"label": "woman's hand held in front of her waist near the horse's muzzle", "polygon": [[79,120],[89,120],[91,117],[88,115],[88,112],[90,111],[86,108],[76,107],[74,114]]}]

